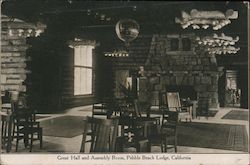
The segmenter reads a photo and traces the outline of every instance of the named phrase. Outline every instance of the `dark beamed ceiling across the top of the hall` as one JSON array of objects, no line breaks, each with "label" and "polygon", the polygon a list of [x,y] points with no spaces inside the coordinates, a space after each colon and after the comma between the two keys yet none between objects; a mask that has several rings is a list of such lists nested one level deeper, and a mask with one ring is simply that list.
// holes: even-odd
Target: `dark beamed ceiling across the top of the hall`
[{"label": "dark beamed ceiling across the top of the hall", "polygon": [[[239,17],[217,31],[211,28],[182,29],[175,23],[175,17],[180,17],[181,11],[190,12],[192,9],[219,10],[223,13],[233,9],[239,12]],[[171,32],[195,32],[197,35],[225,33],[240,37],[240,54],[244,55],[244,59],[247,57],[248,18],[247,4],[244,2],[5,0],[2,2],[2,14],[27,22],[42,22],[52,29],[60,26],[65,31],[71,29],[86,32],[94,37],[115,37],[115,24],[123,18],[136,20],[140,25],[140,34],[143,35]]]}]

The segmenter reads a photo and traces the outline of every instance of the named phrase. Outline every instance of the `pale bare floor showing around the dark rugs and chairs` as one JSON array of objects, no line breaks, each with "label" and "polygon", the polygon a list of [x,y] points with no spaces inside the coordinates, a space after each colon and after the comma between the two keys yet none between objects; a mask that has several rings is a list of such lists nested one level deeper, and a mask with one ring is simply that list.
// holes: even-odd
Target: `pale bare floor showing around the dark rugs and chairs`
[{"label": "pale bare floor showing around the dark rugs and chairs", "polygon": [[[216,124],[230,124],[230,125],[244,125],[246,126],[247,136],[249,137],[249,121],[246,120],[234,120],[234,119],[222,119],[230,111],[244,111],[248,112],[247,109],[240,108],[220,108],[214,117],[198,117],[192,122],[199,123],[216,123]],[[41,114],[38,121],[44,121],[48,119],[53,119],[61,116],[91,116],[91,106],[77,107],[68,109],[63,114]],[[56,121],[56,120],[54,120]],[[47,128],[45,128],[47,129]],[[63,130],[62,130],[63,131]],[[191,132],[190,132],[191,133]],[[240,141],[240,139],[237,139]],[[81,143],[81,135],[75,137],[53,137],[53,136],[43,136],[43,149],[39,149],[39,143],[35,142],[33,147],[33,152],[35,153],[79,153]],[[12,145],[12,153],[15,153],[15,142]],[[128,152],[134,152],[134,148],[129,148]],[[153,146],[151,151],[154,153],[159,153],[160,148]],[[18,153],[29,153],[28,149],[25,149],[23,144],[20,143]],[[171,150],[169,152],[172,152]],[[233,150],[220,150],[212,148],[199,148],[199,147],[188,147],[188,146],[178,146],[178,153],[243,153],[241,151]]]}]

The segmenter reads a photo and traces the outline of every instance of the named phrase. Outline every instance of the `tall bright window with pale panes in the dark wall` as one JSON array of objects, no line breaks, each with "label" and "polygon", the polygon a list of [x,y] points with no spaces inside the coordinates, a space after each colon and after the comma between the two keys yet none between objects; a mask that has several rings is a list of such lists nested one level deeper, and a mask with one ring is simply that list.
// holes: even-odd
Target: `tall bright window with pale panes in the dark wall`
[{"label": "tall bright window with pale panes in the dark wall", "polygon": [[92,50],[93,46],[74,48],[74,95],[92,94]]}]

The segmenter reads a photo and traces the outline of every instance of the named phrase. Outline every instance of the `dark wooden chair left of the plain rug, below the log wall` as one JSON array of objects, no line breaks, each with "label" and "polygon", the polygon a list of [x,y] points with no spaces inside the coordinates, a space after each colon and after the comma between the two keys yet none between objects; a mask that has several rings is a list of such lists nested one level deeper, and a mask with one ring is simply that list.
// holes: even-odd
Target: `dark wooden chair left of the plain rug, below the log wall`
[{"label": "dark wooden chair left of the plain rug, below the log wall", "polygon": [[42,148],[42,128],[40,123],[36,121],[35,113],[28,109],[18,109],[18,106],[13,104],[13,139],[16,139],[16,151],[20,140],[24,140],[25,148],[29,145],[30,152],[32,151],[33,142],[39,140],[40,148]]}]

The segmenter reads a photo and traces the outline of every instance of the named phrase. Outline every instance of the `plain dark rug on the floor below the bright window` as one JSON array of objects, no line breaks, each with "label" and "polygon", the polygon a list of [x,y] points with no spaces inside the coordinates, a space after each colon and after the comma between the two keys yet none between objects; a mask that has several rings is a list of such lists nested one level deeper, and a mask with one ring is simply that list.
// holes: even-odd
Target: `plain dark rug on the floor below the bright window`
[{"label": "plain dark rug on the floor below the bright window", "polygon": [[41,121],[44,136],[72,138],[84,132],[83,116],[61,116]]}]

